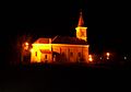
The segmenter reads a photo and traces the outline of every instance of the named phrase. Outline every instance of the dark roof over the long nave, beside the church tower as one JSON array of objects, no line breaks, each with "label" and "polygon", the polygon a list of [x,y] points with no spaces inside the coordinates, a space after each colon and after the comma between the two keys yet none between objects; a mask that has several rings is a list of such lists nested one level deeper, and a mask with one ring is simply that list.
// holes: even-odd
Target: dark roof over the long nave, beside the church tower
[{"label": "dark roof over the long nave, beside the church tower", "polygon": [[52,44],[75,44],[75,45],[87,45],[84,39],[70,36],[57,36]]}]

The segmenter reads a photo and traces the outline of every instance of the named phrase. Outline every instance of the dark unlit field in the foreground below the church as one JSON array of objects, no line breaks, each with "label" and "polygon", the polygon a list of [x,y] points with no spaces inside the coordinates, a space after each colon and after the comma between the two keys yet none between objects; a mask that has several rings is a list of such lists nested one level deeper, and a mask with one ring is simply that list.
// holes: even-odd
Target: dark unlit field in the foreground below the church
[{"label": "dark unlit field in the foreground below the church", "polygon": [[130,83],[129,65],[45,64],[0,69],[0,92],[86,92]]}]

